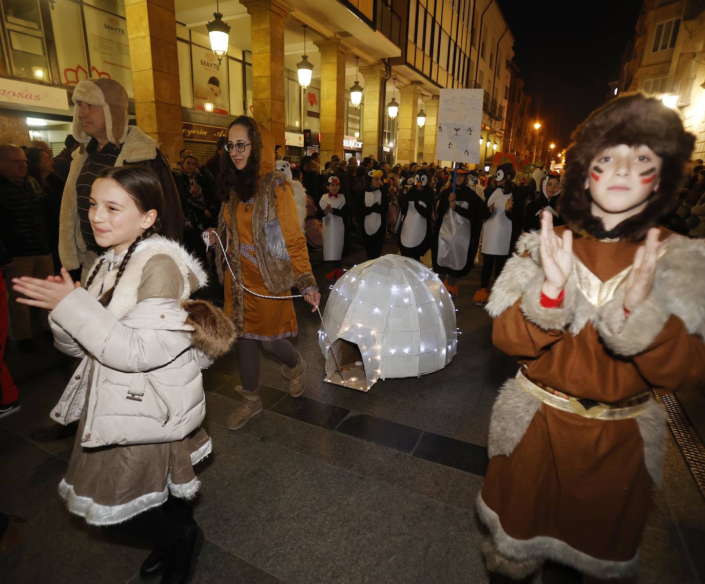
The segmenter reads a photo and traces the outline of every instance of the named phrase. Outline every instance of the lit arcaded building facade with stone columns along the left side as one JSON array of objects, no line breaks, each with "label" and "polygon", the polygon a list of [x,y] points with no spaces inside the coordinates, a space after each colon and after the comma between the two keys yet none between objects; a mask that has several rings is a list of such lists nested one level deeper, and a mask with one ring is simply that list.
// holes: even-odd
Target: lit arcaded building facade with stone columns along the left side
[{"label": "lit arcaded building facade with stone columns along the left side", "polygon": [[[215,1],[0,6],[0,139],[16,144],[38,138],[59,151],[71,132],[73,87],[100,76],[125,86],[131,123],[172,161],[184,146],[212,154],[241,114],[266,125],[293,159],[319,150],[324,160],[434,161],[446,87],[484,89],[481,164],[505,148],[513,36],[495,0],[223,0],[231,32],[221,58],[206,28]],[[304,54],[313,74],[302,89]],[[355,81],[363,87],[357,107]]]}]

